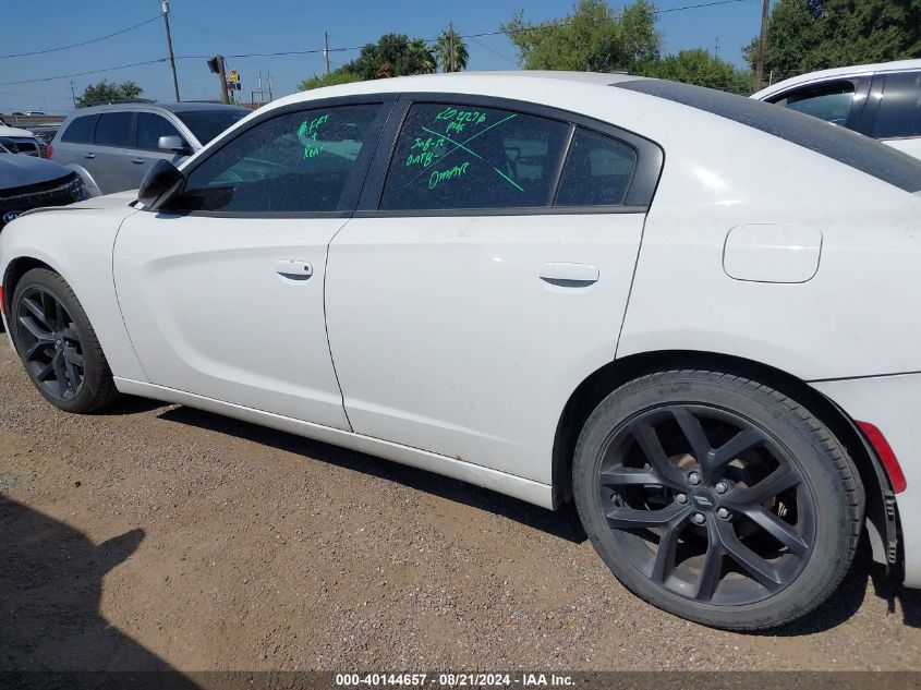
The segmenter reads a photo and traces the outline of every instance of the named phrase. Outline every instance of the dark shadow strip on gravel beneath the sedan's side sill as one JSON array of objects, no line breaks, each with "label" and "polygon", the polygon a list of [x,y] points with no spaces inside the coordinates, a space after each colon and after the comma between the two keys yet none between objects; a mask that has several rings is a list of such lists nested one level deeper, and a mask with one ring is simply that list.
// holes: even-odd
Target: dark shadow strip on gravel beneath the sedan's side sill
[{"label": "dark shadow strip on gravel beneath the sedan's side sill", "polygon": [[426,494],[494,512],[575,544],[581,544],[587,538],[579,523],[579,516],[571,506],[558,512],[552,512],[440,474],[192,408],[174,408],[162,412],[159,416],[170,422],[237,436],[286,452],[308,456],[322,462],[396,482]]}]

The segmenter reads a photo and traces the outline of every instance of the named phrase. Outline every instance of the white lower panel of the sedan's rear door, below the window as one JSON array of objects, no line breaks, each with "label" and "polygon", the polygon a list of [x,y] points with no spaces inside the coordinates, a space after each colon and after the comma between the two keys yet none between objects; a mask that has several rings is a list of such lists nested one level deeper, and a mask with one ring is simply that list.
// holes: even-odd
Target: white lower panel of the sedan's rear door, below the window
[{"label": "white lower panel of the sedan's rear door, below the window", "polygon": [[[355,432],[549,484],[566,401],[614,359],[643,218],[350,221],[330,247],[327,324]],[[597,282],[541,277],[580,267]]]}]

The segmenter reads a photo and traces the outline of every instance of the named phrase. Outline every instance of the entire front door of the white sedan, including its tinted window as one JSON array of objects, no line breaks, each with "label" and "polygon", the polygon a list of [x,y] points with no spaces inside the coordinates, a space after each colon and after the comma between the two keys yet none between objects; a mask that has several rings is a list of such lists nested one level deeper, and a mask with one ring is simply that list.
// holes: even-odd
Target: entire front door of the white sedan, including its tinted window
[{"label": "entire front door of the white sedan, including its tinted window", "polygon": [[327,247],[348,221],[383,102],[256,120],[185,191],[119,231],[119,303],[148,382],[349,428],[324,322]]}]

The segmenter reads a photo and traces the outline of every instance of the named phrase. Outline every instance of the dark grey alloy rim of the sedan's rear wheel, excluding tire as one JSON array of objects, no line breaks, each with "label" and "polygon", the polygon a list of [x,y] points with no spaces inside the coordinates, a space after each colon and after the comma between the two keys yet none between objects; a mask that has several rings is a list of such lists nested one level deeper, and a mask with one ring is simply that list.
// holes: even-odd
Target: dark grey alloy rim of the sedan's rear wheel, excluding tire
[{"label": "dark grey alloy rim of the sedan's rear wheel, excluding tire", "polygon": [[656,586],[701,604],[752,604],[809,560],[812,493],[796,458],[751,420],[659,405],[619,425],[602,453],[601,510],[621,554]]}]

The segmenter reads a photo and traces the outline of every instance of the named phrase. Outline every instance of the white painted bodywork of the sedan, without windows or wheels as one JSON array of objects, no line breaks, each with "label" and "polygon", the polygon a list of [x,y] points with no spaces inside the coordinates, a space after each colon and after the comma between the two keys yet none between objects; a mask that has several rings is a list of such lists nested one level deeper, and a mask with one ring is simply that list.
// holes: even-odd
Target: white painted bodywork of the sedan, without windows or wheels
[{"label": "white painted bodywork of the sedan, without windows or wheels", "polygon": [[[921,372],[921,197],[729,119],[607,86],[632,78],[495,73],[348,84],[283,98],[230,131],[276,108],[366,93],[541,104],[663,147],[645,221],[175,218],[111,198],[106,208],[14,221],[0,234],[0,276],[19,257],[58,270],[125,392],[543,506],[553,505],[556,424],[586,376],[616,359],[672,350],[752,360],[811,382],[886,433],[908,476],[898,496],[904,531],[921,534],[911,505],[921,482],[910,426],[917,384],[890,376]],[[740,226],[786,230],[739,241],[731,231]],[[311,278],[279,276],[278,263],[290,261],[312,264]],[[598,279],[585,287],[541,279],[573,270],[592,279],[591,267]],[[906,552],[906,582],[921,584],[921,537],[908,536]]]}]

